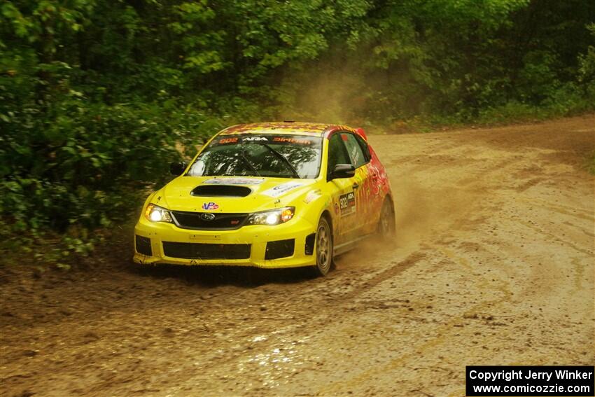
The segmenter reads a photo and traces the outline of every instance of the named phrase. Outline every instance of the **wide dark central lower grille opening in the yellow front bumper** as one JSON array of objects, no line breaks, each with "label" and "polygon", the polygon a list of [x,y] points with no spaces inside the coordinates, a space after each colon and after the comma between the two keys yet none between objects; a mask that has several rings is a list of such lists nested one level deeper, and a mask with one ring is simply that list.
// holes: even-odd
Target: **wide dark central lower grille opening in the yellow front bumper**
[{"label": "wide dark central lower grille opening in the yellow front bumper", "polygon": [[183,259],[248,259],[250,244],[202,244],[163,242],[163,253]]}]

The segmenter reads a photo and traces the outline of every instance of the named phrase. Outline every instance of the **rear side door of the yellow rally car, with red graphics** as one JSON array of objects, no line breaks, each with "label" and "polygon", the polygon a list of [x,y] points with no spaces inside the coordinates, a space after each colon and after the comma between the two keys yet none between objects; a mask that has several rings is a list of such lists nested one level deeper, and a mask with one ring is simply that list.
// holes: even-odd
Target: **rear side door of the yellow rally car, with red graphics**
[{"label": "rear side door of the yellow rally car, with red graphics", "polygon": [[351,132],[340,132],[340,136],[349,155],[349,160],[353,167],[356,167],[356,175],[353,177],[353,192],[356,197],[356,216],[354,230],[358,236],[365,235],[370,232],[370,222],[374,218],[370,205],[370,172],[367,164],[370,162],[369,152],[365,153],[358,137]]}]

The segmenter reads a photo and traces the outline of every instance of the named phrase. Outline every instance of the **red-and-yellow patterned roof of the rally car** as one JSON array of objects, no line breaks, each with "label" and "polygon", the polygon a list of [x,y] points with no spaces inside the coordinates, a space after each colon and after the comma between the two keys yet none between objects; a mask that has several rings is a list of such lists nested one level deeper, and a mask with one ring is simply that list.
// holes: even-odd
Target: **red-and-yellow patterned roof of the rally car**
[{"label": "red-and-yellow patterned roof of the rally car", "polygon": [[225,130],[221,131],[219,134],[291,134],[320,137],[324,132],[335,130],[336,128],[353,131],[351,127],[332,124],[281,121],[232,125],[231,127],[225,128]]}]

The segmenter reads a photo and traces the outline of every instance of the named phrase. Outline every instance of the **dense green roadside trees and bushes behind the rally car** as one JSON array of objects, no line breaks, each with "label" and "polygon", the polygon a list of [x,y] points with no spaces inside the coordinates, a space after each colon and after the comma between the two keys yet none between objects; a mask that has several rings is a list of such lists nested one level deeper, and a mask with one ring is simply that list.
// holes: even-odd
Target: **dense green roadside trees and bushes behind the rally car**
[{"label": "dense green roadside trees and bushes behind the rally car", "polygon": [[409,132],[593,111],[594,43],[582,0],[0,1],[3,249],[86,255],[176,147],[233,123]]}]

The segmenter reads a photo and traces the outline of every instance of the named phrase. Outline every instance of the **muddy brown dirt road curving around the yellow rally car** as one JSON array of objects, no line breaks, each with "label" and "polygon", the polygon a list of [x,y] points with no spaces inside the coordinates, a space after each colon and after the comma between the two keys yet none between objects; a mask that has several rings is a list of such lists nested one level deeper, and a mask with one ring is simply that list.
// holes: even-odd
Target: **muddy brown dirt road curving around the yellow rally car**
[{"label": "muddy brown dirt road curving around the yellow rally car", "polygon": [[372,136],[398,211],[328,277],[1,268],[3,396],[462,396],[465,365],[595,363],[595,117]]}]

